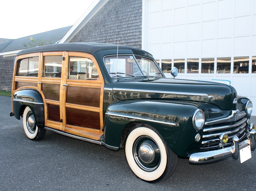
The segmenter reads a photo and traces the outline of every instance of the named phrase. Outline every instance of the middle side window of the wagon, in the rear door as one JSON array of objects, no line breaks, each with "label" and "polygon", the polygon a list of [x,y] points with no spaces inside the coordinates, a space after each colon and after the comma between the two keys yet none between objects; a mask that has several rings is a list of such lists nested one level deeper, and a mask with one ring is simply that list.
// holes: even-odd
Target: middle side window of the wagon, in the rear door
[{"label": "middle side window of the wagon, in the rear door", "polygon": [[43,77],[60,78],[62,68],[62,56],[43,57]]}]

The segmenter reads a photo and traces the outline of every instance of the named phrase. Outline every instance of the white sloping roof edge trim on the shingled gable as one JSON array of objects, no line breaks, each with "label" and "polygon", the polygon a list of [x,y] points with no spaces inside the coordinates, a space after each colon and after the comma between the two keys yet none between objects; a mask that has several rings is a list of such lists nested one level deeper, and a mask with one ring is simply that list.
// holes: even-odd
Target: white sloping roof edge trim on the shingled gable
[{"label": "white sloping roof edge trim on the shingled gable", "polygon": [[108,0],[94,0],[84,14],[76,21],[76,23],[67,31],[66,35],[58,44],[68,43],[82,27],[108,2]]}]

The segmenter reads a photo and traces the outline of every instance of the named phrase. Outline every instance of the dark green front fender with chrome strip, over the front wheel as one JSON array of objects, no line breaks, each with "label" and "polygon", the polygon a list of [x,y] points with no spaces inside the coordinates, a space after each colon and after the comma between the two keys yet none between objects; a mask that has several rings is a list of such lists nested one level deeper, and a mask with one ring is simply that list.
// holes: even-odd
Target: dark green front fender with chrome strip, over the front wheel
[{"label": "dark green front fender with chrome strip, over the front wheel", "polygon": [[194,145],[197,132],[192,125],[197,109],[196,104],[180,101],[132,100],[112,104],[105,115],[103,141],[112,147],[120,147],[126,126],[147,123],[162,135],[175,154],[187,156],[198,146]]}]

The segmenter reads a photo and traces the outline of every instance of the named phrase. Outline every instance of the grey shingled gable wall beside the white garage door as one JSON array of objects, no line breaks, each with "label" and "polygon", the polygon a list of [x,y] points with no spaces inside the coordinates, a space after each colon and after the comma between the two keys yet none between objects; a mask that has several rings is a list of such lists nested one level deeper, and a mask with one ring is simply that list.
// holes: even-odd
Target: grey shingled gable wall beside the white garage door
[{"label": "grey shingled gable wall beside the white garage door", "polygon": [[69,43],[110,43],[141,48],[142,0],[109,0]]}]

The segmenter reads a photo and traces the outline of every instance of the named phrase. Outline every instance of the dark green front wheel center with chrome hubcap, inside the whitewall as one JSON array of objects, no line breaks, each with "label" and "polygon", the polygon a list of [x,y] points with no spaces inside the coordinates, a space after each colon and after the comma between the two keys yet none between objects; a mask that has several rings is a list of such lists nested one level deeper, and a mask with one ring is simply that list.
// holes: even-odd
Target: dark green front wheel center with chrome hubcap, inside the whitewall
[{"label": "dark green front wheel center with chrome hubcap, inside the whitewall", "polygon": [[159,147],[148,136],[138,137],[133,144],[133,158],[142,170],[154,171],[160,164]]}]

